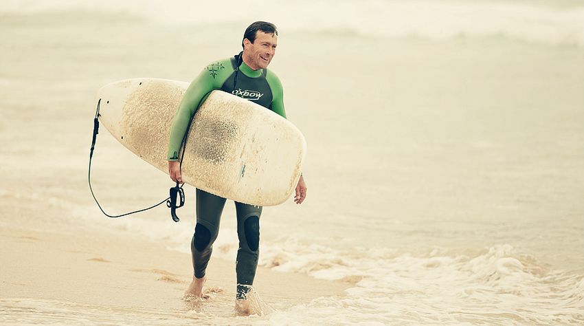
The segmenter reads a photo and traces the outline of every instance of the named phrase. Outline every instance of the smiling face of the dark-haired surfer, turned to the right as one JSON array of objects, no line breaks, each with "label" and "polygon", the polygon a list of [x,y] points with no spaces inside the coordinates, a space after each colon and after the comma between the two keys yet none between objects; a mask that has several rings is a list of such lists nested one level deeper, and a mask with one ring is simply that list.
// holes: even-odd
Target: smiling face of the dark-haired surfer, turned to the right
[{"label": "smiling face of the dark-haired surfer, turned to the right", "polygon": [[276,55],[278,46],[278,36],[267,34],[258,30],[256,41],[251,43],[248,39],[243,41],[243,58],[251,69],[258,70],[267,68],[271,59]]}]

